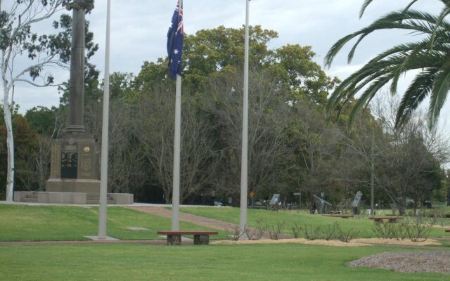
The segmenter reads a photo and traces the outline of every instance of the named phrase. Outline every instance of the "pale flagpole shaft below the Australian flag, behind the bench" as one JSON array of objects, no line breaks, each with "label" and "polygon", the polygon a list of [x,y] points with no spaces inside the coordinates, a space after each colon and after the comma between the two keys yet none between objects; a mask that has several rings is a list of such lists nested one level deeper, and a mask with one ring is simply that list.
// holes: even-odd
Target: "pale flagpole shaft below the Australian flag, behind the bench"
[{"label": "pale flagpole shaft below the Australian flag, behind the bench", "polygon": [[180,146],[181,146],[181,76],[176,74],[174,179],[172,190],[172,231],[179,230],[180,211]]}]

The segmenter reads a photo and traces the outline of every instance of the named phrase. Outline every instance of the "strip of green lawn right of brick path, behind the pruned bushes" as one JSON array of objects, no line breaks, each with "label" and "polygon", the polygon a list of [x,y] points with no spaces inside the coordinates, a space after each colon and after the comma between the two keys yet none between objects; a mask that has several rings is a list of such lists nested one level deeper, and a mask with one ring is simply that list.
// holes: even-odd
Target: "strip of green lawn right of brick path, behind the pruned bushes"
[{"label": "strip of green lawn right of brick path, behind the pruned bushes", "polygon": [[[230,223],[239,223],[240,209],[239,208],[181,208],[189,214],[198,216],[205,216],[207,218],[216,218],[221,221],[228,221]],[[359,232],[358,237],[371,238],[375,237],[373,233],[373,221],[369,220],[367,216],[362,218],[330,218],[321,216],[319,214],[305,214],[304,212],[297,213],[297,211],[268,211],[265,209],[248,209],[248,226],[257,226],[257,221],[266,221],[274,226],[277,221],[284,221],[283,233],[293,235],[292,228],[297,223],[300,226],[327,226],[333,223],[339,223],[342,230],[355,230]],[[446,218],[448,225],[450,219]],[[430,233],[431,237],[446,236],[442,228],[433,228]]]}]

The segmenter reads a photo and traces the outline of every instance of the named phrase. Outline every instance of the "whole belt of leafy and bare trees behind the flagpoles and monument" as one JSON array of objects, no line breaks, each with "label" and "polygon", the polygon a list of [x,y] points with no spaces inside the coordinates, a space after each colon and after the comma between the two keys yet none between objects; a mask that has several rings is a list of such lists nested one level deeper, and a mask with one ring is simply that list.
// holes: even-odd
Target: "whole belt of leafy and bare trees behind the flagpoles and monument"
[{"label": "whole belt of leafy and bare trees behind the flagpoles and monument", "polygon": [[[325,192],[328,201],[345,207],[358,190],[368,202],[373,147],[377,148],[376,202],[401,203],[399,198],[407,196],[420,204],[430,199],[433,190],[446,188],[440,165],[448,155],[437,155],[426,130],[405,131],[397,138],[383,123],[387,115],[375,118],[370,112],[356,119],[353,131],[347,131],[342,121],[327,124],[327,96],[339,81],[314,62],[311,47],[296,44],[271,50],[269,42],[276,32],[255,26],[250,34],[249,190],[256,193],[255,202],[274,193],[280,193],[283,202],[295,202],[298,197],[293,192],[299,190],[302,204],[310,204],[312,194]],[[243,28],[226,27],[186,36],[181,106],[181,201],[185,204],[229,202],[229,197],[233,205],[239,203],[243,37]],[[98,139],[101,87],[95,81],[87,83],[85,98],[85,126]],[[139,202],[170,202],[174,84],[167,59],[144,62],[136,76],[112,74],[110,91],[110,190],[133,192]],[[46,140],[55,138],[65,119],[63,103],[60,108],[30,110],[25,115],[27,126]],[[343,108],[342,119],[349,110]],[[36,141],[28,145],[30,150],[40,147]],[[413,166],[408,174],[411,182],[420,178],[420,185],[404,183],[405,188],[397,188],[386,180],[405,176],[402,171],[411,165],[402,158],[403,148],[421,151],[411,152],[422,165]],[[48,159],[49,151],[39,151]],[[404,161],[403,166],[390,157]],[[48,177],[48,162],[45,165],[47,169],[18,166],[18,171],[39,174],[29,185],[18,181],[18,189],[42,189],[44,182],[37,179]]]}]

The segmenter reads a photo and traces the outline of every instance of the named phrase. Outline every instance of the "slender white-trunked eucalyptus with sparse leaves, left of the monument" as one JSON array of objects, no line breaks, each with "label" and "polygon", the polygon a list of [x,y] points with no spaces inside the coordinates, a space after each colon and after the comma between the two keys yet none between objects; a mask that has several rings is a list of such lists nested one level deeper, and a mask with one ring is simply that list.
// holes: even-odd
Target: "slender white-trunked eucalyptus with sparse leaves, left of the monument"
[{"label": "slender white-trunked eucalyptus with sparse leaves, left of the monument", "polygon": [[[3,112],[6,124],[8,171],[6,200],[13,200],[14,140],[11,122],[14,86],[25,82],[33,86],[48,86],[53,77],[45,67],[67,67],[68,55],[63,46],[68,44],[67,33],[41,34],[32,31],[37,22],[49,20],[66,3],[65,0],[20,0],[0,2],[0,71],[3,89]],[[26,64],[20,64],[25,58]]]}]

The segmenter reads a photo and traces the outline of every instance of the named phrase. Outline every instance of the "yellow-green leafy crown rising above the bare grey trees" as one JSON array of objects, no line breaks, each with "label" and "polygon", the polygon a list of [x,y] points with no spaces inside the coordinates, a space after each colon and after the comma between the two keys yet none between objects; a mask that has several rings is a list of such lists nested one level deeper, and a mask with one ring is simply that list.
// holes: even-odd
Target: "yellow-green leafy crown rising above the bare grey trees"
[{"label": "yellow-green leafy crown rising above the bare grey trees", "polygon": [[[328,91],[337,79],[327,77],[320,65],[314,63],[315,53],[310,46],[287,45],[271,50],[269,43],[278,37],[273,30],[261,26],[250,27],[250,72],[270,70],[277,77],[279,86],[292,92],[286,100],[298,100],[300,96],[324,104]],[[220,72],[236,72],[243,69],[245,30],[219,26],[212,30],[199,30],[185,37],[183,53],[183,89],[198,93],[208,83],[209,77]],[[135,79],[136,89],[152,89],[160,81],[170,83],[167,74],[167,58],[156,63],[145,62]],[[158,82],[158,83],[156,83]]]}]

